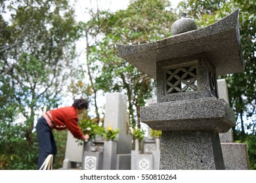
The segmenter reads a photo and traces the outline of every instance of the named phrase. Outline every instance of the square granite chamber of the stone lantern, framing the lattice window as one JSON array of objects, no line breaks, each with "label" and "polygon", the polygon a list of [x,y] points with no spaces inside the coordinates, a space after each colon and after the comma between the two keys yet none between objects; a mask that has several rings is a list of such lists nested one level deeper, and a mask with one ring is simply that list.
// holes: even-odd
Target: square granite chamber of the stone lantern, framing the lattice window
[{"label": "square granite chamber of the stone lantern, framing the lattice window", "polygon": [[[177,93],[166,93],[167,91],[167,76],[166,72],[171,68],[183,68],[194,66],[195,79],[197,88],[190,92],[177,92]],[[215,68],[211,65],[206,54],[198,54],[192,56],[185,56],[182,58],[174,58],[166,61],[160,61],[157,63],[157,95],[158,103],[168,101],[181,101],[185,99],[198,99],[205,97],[217,97],[217,80],[215,76]],[[182,73],[182,72],[181,72]],[[215,88],[211,89],[211,78],[209,74],[213,75],[213,82]],[[177,78],[182,78],[184,75],[189,77],[189,74],[176,75]],[[173,83],[174,84],[174,83]]]}]

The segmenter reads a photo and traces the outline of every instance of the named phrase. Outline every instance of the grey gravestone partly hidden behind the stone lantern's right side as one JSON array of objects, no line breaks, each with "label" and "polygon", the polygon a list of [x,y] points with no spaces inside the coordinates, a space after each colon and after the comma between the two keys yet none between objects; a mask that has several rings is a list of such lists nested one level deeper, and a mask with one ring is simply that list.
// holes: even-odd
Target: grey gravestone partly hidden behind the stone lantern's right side
[{"label": "grey gravestone partly hidden behind the stone lantern's right side", "polygon": [[[226,80],[217,80],[219,98],[228,103],[228,88]],[[234,143],[232,129],[227,133],[220,133],[221,149],[223,152],[224,165],[226,170],[247,170],[249,160],[247,146],[243,143]]]}]

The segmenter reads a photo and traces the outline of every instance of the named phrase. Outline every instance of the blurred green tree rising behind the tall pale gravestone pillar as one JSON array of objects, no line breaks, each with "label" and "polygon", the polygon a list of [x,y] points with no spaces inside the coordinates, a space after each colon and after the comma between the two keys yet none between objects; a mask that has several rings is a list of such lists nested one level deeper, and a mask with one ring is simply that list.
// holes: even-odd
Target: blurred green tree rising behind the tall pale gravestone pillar
[{"label": "blurred green tree rising behind the tall pale gravestone pillar", "polygon": [[[152,12],[154,9],[154,12]],[[141,44],[171,35],[169,1],[131,1],[126,10],[115,13],[100,12],[95,27],[102,37],[91,46],[89,61],[94,66],[95,87],[104,92],[123,92],[128,96],[131,127],[140,127],[140,106],[152,97],[154,82],[135,67],[117,57],[116,43]],[[101,26],[100,26],[101,25]],[[91,35],[91,33],[89,33]],[[91,35],[93,36],[93,34]]]}]

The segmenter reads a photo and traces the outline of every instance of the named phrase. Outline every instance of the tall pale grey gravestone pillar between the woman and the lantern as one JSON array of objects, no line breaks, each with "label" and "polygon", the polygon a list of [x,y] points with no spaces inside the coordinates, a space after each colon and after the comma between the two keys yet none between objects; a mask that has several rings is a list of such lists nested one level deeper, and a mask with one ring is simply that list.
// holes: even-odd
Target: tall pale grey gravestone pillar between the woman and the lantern
[{"label": "tall pale grey gravestone pillar between the woman and the lantern", "polygon": [[131,169],[131,135],[127,122],[127,96],[121,93],[106,95],[104,127],[119,128],[115,142],[104,142],[103,169]]}]

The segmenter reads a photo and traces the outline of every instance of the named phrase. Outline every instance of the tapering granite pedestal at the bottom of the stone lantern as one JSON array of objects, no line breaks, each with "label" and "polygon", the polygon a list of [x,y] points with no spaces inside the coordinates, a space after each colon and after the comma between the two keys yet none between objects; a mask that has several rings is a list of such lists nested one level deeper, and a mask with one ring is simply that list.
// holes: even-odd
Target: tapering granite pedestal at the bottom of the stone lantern
[{"label": "tapering granite pedestal at the bottom of the stone lantern", "polygon": [[162,131],[160,169],[224,169],[218,133],[213,131]]}]

